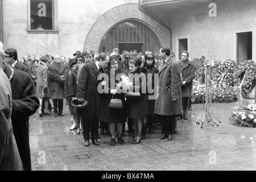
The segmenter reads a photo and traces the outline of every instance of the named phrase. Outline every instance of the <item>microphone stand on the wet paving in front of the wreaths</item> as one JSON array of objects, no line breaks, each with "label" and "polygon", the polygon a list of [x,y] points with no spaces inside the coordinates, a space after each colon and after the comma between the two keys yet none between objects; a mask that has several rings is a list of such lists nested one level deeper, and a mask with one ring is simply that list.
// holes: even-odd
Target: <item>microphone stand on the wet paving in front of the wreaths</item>
[{"label": "microphone stand on the wet paving in front of the wreaths", "polygon": [[203,126],[220,126],[220,121],[216,120],[212,116],[212,93],[211,93],[211,75],[212,65],[214,61],[209,61],[203,67],[205,67],[205,106],[204,106],[204,117],[203,119],[196,119],[196,127]]}]

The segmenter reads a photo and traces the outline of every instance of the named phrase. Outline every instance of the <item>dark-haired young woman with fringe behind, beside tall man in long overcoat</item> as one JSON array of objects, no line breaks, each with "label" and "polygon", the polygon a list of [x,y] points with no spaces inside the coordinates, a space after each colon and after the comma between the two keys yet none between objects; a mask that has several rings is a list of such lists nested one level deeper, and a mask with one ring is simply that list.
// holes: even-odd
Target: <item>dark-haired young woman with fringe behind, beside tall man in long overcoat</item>
[{"label": "dark-haired young woman with fringe behind, beside tall man in long overcoat", "polygon": [[[150,88],[155,89],[155,82],[154,82],[154,74],[158,74],[158,68],[155,66],[155,57],[152,53],[147,53],[145,55],[145,63],[144,67],[147,68],[147,85],[150,85]],[[147,87],[148,88],[148,87]],[[148,96],[154,96],[155,92],[147,92]],[[148,114],[147,114],[147,131],[146,133],[154,133],[152,129],[152,124],[154,123],[154,108],[155,108],[155,100],[148,99]]]}]

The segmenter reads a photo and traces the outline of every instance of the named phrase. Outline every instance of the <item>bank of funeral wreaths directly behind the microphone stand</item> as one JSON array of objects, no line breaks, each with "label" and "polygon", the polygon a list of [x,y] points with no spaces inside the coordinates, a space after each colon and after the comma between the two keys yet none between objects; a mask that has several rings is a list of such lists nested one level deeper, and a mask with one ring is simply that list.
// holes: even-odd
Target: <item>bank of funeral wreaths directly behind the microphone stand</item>
[{"label": "bank of funeral wreaths directly behind the microphone stand", "polygon": [[[193,80],[192,104],[204,102],[204,78],[205,69],[203,65],[207,63],[205,59],[194,59],[196,65],[195,79]],[[212,67],[212,102],[233,102],[237,100],[238,88],[234,87],[235,81],[233,73],[237,70],[237,65],[233,60],[225,60],[224,63],[214,61]]]}]

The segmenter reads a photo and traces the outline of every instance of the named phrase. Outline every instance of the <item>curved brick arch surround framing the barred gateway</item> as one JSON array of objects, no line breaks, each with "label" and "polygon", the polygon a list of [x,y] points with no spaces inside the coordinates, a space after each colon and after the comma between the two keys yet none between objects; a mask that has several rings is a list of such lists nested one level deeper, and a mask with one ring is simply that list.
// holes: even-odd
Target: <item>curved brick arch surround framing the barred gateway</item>
[{"label": "curved brick arch surround framing the barred gateway", "polygon": [[[125,12],[125,13],[124,13]],[[127,3],[119,5],[106,11],[100,16],[90,28],[84,44],[85,50],[92,50],[98,52],[101,40],[115,25],[126,20],[137,20],[146,24],[157,36],[160,45],[171,46],[171,31],[161,23],[153,19],[151,16],[143,13],[139,9],[139,5],[135,3]]]}]

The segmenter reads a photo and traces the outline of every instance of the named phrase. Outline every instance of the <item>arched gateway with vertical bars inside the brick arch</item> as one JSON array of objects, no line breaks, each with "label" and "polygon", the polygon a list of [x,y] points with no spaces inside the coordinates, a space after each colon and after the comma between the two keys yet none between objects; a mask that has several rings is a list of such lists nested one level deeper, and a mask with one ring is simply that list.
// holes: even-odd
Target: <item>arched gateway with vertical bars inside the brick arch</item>
[{"label": "arched gateway with vertical bars inside the brick arch", "polygon": [[127,20],[119,23],[108,31],[101,41],[99,52],[112,52],[113,48],[120,52],[134,51],[159,52],[160,43],[155,33],[145,24],[137,20]]}]

